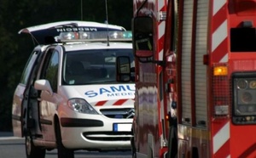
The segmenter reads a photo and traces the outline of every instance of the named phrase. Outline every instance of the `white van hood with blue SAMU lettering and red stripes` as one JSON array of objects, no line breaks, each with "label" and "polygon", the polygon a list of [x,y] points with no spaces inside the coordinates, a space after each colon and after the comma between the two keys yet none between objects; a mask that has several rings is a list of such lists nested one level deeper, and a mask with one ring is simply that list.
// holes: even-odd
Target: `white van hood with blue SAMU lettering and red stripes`
[{"label": "white van hood with blue SAMU lettering and red stripes", "polygon": [[96,106],[133,104],[135,84],[62,86],[61,93],[69,99],[83,98]]}]

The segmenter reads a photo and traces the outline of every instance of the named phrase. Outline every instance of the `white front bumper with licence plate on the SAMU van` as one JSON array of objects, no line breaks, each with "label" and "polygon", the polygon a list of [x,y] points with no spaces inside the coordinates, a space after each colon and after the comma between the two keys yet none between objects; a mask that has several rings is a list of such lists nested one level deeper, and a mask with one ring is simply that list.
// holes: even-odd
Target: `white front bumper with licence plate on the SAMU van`
[{"label": "white front bumper with licence plate on the SAMU van", "polygon": [[62,144],[74,150],[131,150],[132,119],[61,118]]}]

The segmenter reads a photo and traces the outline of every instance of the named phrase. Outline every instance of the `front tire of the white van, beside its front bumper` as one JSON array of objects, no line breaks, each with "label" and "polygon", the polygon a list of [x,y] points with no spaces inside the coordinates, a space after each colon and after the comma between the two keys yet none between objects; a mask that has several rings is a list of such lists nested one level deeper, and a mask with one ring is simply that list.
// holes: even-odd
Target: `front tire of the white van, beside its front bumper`
[{"label": "front tire of the white van, beside its front bumper", "polygon": [[73,150],[68,150],[64,147],[62,144],[62,138],[61,138],[61,127],[60,123],[56,121],[55,124],[55,133],[56,133],[56,144],[57,144],[57,150],[58,150],[58,158],[74,158],[74,152]]}]

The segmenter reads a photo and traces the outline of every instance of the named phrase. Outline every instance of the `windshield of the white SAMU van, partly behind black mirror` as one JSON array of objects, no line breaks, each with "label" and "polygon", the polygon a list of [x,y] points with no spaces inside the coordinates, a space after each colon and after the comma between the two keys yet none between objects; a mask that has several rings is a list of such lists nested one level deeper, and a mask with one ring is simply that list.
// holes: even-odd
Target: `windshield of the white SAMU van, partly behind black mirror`
[{"label": "windshield of the white SAMU van, partly behind black mirror", "polygon": [[94,49],[67,52],[63,62],[63,85],[84,85],[116,82],[115,61],[129,56],[134,67],[132,49]]}]

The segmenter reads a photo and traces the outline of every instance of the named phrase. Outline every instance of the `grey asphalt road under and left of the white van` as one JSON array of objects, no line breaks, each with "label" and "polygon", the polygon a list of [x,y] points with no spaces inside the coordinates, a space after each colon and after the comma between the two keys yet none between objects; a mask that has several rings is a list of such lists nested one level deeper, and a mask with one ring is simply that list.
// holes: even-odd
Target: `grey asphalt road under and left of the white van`
[{"label": "grey asphalt road under and left of the white van", "polygon": [[[0,132],[0,158],[26,158],[24,138],[15,138],[12,133]],[[57,158],[57,150],[46,152],[45,158]],[[75,152],[75,158],[131,158],[131,152]]]}]

